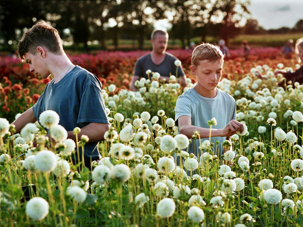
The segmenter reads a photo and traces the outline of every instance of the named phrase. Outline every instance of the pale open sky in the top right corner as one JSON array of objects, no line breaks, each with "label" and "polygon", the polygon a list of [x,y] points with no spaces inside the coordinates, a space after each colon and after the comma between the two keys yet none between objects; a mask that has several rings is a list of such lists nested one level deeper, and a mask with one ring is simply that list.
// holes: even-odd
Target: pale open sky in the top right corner
[{"label": "pale open sky in the top right corner", "polygon": [[264,29],[292,28],[303,19],[303,0],[251,0],[248,9]]}]

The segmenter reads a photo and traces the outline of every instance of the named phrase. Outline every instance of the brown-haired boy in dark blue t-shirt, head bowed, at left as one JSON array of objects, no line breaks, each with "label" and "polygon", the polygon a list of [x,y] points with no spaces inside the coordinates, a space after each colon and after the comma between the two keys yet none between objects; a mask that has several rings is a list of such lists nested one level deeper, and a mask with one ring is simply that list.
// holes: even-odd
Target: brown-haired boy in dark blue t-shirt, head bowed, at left
[{"label": "brown-haired boy in dark blue t-shirt, head bowed, at left", "polygon": [[100,81],[69,60],[58,31],[45,21],[38,21],[25,31],[18,44],[18,54],[22,61],[29,64],[31,73],[42,79],[50,74],[54,78],[46,85],[35,105],[12,123],[16,133],[27,123],[39,121],[43,111],[54,110],[60,117],[59,124],[67,130],[68,138],[76,140],[73,133],[75,127],[81,128],[78,138],[82,134],[88,136],[89,141],[84,146],[84,164],[90,168],[91,160],[99,159],[98,143],[104,140],[104,133],[109,129]]}]

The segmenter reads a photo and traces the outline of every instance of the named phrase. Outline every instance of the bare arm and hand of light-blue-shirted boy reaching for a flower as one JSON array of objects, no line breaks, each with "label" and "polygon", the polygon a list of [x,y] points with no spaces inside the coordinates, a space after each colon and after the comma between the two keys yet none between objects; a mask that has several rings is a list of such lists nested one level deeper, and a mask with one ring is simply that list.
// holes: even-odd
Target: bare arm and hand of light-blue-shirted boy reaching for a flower
[{"label": "bare arm and hand of light-blue-shirted boy reaching for a flower", "polygon": [[[209,128],[201,128],[191,125],[191,117],[181,116],[178,119],[179,132],[184,134],[188,138],[192,138],[192,135],[195,131],[198,131],[200,138],[209,137]],[[224,128],[222,129],[211,129],[211,137],[230,137],[235,134],[237,131],[243,131],[243,124],[236,120],[231,120]]]}]

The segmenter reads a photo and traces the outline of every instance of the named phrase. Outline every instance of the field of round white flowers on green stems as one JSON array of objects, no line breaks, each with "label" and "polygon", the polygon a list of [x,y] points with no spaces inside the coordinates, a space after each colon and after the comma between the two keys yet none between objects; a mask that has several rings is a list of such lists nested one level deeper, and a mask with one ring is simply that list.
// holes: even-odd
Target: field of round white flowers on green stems
[{"label": "field of round white flowers on green stems", "polygon": [[[256,70],[269,79],[254,79]],[[182,91],[174,76],[141,79],[138,92],[103,90],[111,128],[93,171],[72,165],[88,138],[66,139],[55,112],[39,117],[52,141],[38,123],[14,135],[0,118],[0,226],[303,226],[303,86],[277,87],[275,70],[220,82],[246,126],[221,158],[209,140],[203,155],[186,152],[199,135],[178,134],[174,107],[193,84]]]}]

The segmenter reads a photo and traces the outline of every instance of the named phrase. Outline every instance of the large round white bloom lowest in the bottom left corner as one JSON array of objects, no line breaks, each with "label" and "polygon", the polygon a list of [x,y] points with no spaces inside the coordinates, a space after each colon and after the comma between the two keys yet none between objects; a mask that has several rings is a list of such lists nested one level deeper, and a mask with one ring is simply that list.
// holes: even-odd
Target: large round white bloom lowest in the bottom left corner
[{"label": "large round white bloom lowest in the bottom left corner", "polygon": [[34,220],[41,221],[48,215],[48,202],[41,197],[30,199],[25,206],[25,212]]}]

